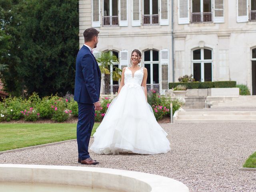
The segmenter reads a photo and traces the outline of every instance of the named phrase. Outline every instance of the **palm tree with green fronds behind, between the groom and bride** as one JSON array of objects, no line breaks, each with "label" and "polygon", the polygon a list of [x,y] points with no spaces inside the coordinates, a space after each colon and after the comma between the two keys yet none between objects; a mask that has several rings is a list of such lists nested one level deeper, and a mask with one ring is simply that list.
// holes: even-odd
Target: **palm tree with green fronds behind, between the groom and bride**
[{"label": "palm tree with green fronds behind, between the groom and bride", "polygon": [[[121,78],[122,70],[114,66],[117,64],[118,58],[110,51],[98,52],[96,54],[96,60],[99,63],[100,72],[104,74],[104,94],[110,94],[109,84],[110,76],[114,81],[118,81]],[[110,73],[110,66],[113,67],[113,71]]]}]

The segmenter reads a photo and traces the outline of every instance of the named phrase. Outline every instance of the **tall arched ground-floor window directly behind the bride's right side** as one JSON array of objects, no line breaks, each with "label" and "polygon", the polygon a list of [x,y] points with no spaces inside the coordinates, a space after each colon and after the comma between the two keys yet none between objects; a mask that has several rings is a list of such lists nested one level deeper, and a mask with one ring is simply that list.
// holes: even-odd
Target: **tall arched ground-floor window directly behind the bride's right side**
[{"label": "tall arched ground-floor window directly behind the bride's right side", "polygon": [[160,64],[158,51],[147,50],[144,52],[144,67],[148,70],[148,89],[154,89],[159,92]]}]

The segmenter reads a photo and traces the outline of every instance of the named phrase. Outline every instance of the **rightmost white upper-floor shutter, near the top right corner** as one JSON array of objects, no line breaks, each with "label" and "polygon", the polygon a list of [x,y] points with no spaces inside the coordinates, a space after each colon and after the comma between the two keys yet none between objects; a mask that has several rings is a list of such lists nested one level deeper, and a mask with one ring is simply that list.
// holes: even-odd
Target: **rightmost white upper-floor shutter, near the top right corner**
[{"label": "rightmost white upper-floor shutter, near the top right corner", "polygon": [[237,0],[237,22],[248,22],[248,0]]}]

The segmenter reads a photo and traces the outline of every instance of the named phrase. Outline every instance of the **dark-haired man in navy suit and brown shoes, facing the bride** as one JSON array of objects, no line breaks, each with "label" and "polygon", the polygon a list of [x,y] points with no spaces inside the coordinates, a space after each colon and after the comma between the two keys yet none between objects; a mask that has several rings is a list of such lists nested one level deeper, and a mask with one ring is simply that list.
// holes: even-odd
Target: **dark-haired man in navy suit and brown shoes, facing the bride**
[{"label": "dark-haired man in navy suit and brown shoes, facing the bride", "polygon": [[100,79],[101,73],[98,63],[92,54],[96,48],[99,32],[94,28],[84,31],[84,45],[76,57],[76,80],[74,100],[78,103],[77,145],[78,162],[96,165],[92,160],[88,146],[94,125],[95,110],[100,110]]}]

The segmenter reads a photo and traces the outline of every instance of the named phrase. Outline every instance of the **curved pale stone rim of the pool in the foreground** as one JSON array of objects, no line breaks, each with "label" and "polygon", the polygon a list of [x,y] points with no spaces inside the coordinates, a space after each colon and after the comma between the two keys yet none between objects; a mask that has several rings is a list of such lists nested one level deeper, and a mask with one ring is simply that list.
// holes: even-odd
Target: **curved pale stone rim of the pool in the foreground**
[{"label": "curved pale stone rim of the pool in the foreground", "polygon": [[0,182],[82,186],[122,192],[189,192],[180,181],[109,168],[0,164]]}]

